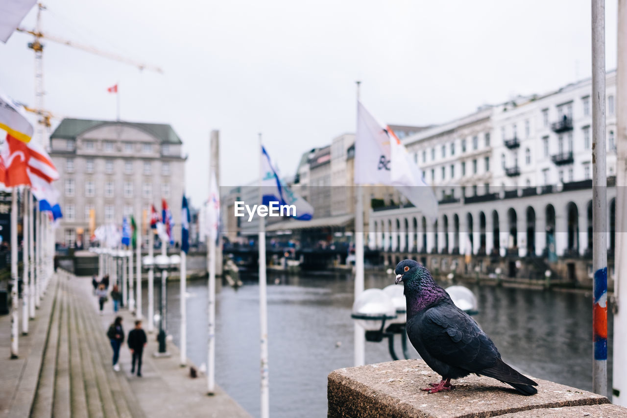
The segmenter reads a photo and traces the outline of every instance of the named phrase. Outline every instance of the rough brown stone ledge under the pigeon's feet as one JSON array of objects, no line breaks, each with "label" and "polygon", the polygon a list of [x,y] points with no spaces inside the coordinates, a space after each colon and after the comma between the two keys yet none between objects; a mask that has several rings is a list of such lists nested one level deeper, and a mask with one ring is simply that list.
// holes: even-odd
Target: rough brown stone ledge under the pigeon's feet
[{"label": "rough brown stone ledge under the pigeon's feet", "polygon": [[342,368],[329,374],[328,417],[490,417],[534,409],[609,404],[606,397],[598,394],[534,380],[539,386],[533,396],[519,395],[505,383],[477,375],[453,381],[455,389],[451,391],[428,394],[420,388],[439,382],[440,376],[422,360]]}]

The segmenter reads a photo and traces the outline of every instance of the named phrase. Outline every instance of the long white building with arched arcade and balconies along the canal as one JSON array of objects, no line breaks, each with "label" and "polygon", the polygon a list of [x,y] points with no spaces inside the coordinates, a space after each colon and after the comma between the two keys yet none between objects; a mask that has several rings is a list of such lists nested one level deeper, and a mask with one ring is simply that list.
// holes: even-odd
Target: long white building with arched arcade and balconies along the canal
[{"label": "long white building with arched arcade and balconies along the canal", "polygon": [[[616,77],[606,82],[609,273],[613,274]],[[371,212],[368,245],[386,262],[511,277],[548,269],[591,279],[591,81],[518,97],[403,139],[439,200],[430,220],[406,201]],[[400,254],[405,253],[405,254]],[[412,254],[416,254],[413,255]],[[463,262],[468,255],[470,264]],[[517,260],[527,262],[516,262]],[[429,267],[428,265],[428,267]],[[446,265],[446,267],[445,267]]]}]

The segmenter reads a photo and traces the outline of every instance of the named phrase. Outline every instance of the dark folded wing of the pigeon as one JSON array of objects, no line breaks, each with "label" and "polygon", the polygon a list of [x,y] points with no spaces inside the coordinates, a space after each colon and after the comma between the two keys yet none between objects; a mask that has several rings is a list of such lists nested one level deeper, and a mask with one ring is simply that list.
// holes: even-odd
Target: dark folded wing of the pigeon
[{"label": "dark folded wing of the pigeon", "polygon": [[493,367],[500,354],[477,323],[453,303],[427,309],[420,324],[429,355],[450,366],[477,373]]}]

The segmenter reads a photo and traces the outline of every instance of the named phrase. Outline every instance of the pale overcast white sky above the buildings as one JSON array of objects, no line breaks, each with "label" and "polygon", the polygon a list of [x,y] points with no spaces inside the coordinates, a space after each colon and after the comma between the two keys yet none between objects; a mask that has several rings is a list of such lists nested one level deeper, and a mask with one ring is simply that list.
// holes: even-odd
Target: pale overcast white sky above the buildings
[{"label": "pale overcast white sky above the buildings", "polygon": [[[43,33],[164,74],[46,42],[45,108],[59,119],[168,123],[184,143],[186,193],[208,196],[209,132],[220,184],[257,177],[258,134],[282,174],[354,132],[361,100],[387,124],[429,125],[591,74],[589,0],[50,0]],[[21,26],[33,28],[35,11]],[[34,104],[31,36],[0,43],[0,88]],[[606,2],[616,67],[616,1]],[[176,180],[173,180],[176,181]]]}]

